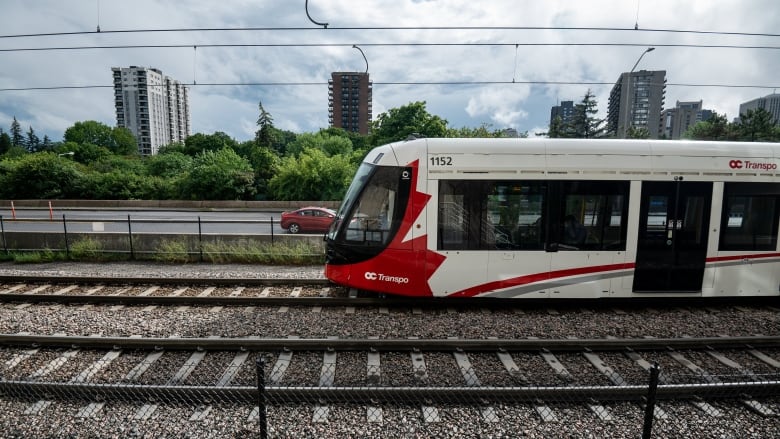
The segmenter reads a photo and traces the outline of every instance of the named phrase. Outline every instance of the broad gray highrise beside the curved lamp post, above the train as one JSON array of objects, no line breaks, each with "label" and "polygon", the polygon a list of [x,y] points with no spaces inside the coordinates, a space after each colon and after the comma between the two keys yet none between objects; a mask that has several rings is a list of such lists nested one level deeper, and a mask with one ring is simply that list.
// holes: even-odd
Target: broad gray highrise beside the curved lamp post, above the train
[{"label": "broad gray highrise beside the curved lamp post, above the train", "polygon": [[629,128],[646,128],[661,137],[661,110],[666,98],[666,70],[622,73],[609,94],[607,131],[625,138]]}]

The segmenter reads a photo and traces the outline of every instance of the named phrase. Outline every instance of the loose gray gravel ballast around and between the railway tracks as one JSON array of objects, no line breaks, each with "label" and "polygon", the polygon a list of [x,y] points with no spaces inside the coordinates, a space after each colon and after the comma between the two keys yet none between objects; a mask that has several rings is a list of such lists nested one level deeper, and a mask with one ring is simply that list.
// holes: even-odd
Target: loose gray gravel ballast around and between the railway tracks
[{"label": "loose gray gravel ballast around and between the railway tracks", "polygon": [[[34,274],[36,276],[115,276],[115,277],[203,277],[203,278],[316,278],[322,277],[321,267],[269,267],[257,265],[157,265],[147,263],[121,264],[0,264],[0,275]],[[186,294],[197,294],[190,288]],[[217,294],[230,294],[232,289]],[[319,294],[305,290],[305,294]],[[274,292],[276,294],[276,292]],[[353,314],[343,308],[324,308],[313,313],[308,308],[292,308],[280,313],[278,308],[254,308],[251,312],[236,307],[219,311],[204,307],[186,310],[159,307],[113,308],[104,306],[35,306],[17,309],[16,304],[0,305],[0,332],[21,331],[73,335],[101,334],[104,336],[141,335],[144,337],[354,337],[382,336],[405,338],[580,338],[678,337],[717,336],[719,334],[751,335],[778,334],[777,313],[773,311],[743,312],[728,310],[704,312],[691,310],[660,310],[657,313],[629,311],[618,314],[610,310],[574,310],[549,313],[530,310],[524,314],[498,310],[449,314],[425,310],[391,310],[389,314],[377,309],[359,308]],[[41,349],[19,365],[5,367],[14,355],[23,349],[0,351],[0,376],[3,379],[24,379],[55,361],[67,349]],[[765,353],[780,359],[780,352]],[[691,360],[717,373],[728,368],[707,354],[684,352]],[[777,373],[768,365],[757,362],[742,353],[728,353],[757,373]],[[733,355],[732,355],[733,354]],[[219,379],[235,353],[209,353],[193,375],[184,383],[210,384]],[[252,353],[240,367],[232,385],[254,384]],[[264,353],[270,361],[270,371],[278,353]],[[117,382],[139,362],[146,353],[125,352],[92,381]],[[166,352],[137,383],[164,384],[187,361],[190,353]],[[88,364],[100,360],[101,355],[81,353],[56,370],[45,380],[67,381]],[[644,383],[647,374],[620,353],[601,354],[601,359],[632,383]],[[448,353],[425,353],[429,377],[415,378],[408,353],[382,353],[381,384],[383,385],[463,385],[464,377],[453,356]],[[490,353],[468,354],[474,374],[483,385],[514,385],[496,356]],[[538,353],[512,353],[512,358],[531,382],[542,385],[567,385],[557,376]],[[577,384],[606,384],[607,380],[581,355],[566,354],[559,361],[575,377]],[[673,382],[691,382],[691,372],[664,353],[648,354],[648,361],[658,362],[664,373],[674,376]],[[322,373],[322,352],[301,352],[282,379],[282,385],[316,385]],[[364,353],[337,354],[335,384],[363,385],[366,383],[366,355]],[[638,404],[603,404],[612,419],[601,420],[586,405],[560,401],[547,407],[556,420],[545,421],[537,408],[529,404],[492,406],[496,422],[488,422],[479,408],[455,404],[440,405],[439,422],[425,422],[422,407],[398,405],[382,407],[382,422],[367,422],[367,407],[335,405],[330,407],[327,421],[313,422],[314,407],[272,405],[268,409],[271,437],[289,438],[343,438],[343,437],[403,437],[403,438],[635,438],[641,435],[642,408]],[[769,408],[780,411],[780,401],[762,400]],[[136,419],[140,404],[111,403],[91,418],[77,416],[86,403],[55,402],[37,415],[25,415],[35,401],[0,398],[0,431],[3,437],[252,437],[258,435],[256,420],[250,417],[251,406],[215,405],[203,420],[190,420],[198,407],[161,406],[148,419]],[[654,437],[714,437],[765,438],[780,436],[780,421],[749,411],[738,402],[713,404],[721,411],[720,417],[706,413],[692,404],[661,403],[666,419],[654,425]],[[202,408],[202,407],[201,407]]]}]

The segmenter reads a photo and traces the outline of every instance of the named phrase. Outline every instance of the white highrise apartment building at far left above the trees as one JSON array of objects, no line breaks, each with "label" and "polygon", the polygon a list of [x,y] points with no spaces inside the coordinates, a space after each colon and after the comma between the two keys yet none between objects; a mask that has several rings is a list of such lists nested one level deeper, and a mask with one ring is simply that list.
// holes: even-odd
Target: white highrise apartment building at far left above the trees
[{"label": "white highrise apartment building at far left above the trees", "polygon": [[189,90],[146,67],[113,67],[116,124],[129,129],[142,155],[190,135]]}]

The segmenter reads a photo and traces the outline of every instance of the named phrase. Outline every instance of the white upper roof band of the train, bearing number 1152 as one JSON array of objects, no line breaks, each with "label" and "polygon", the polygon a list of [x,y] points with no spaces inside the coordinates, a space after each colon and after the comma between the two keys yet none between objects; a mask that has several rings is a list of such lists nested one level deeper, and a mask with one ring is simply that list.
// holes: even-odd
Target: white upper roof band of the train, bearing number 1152
[{"label": "white upper roof band of the train, bearing number 1152", "polygon": [[[441,162],[430,157],[446,156]],[[591,174],[780,176],[780,143],[634,139],[430,138],[374,149],[369,163],[398,166],[415,161],[441,174]],[[772,180],[773,181],[773,180]]]}]

